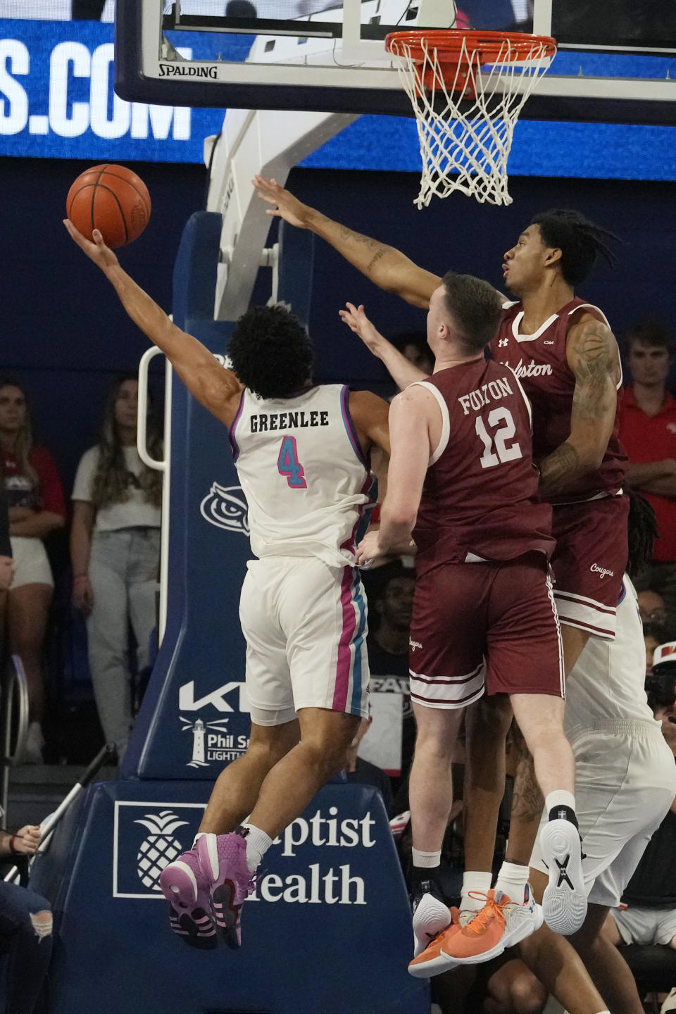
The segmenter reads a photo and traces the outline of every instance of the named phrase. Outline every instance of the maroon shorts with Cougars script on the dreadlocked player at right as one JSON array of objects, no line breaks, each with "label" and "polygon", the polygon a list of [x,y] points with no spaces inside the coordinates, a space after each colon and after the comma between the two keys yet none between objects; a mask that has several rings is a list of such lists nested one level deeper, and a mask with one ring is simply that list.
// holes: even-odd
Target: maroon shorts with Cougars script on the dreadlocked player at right
[{"label": "maroon shorts with Cougars script on the dreadlocked player at right", "polygon": [[604,497],[552,510],[554,601],[562,624],[615,636],[615,609],[626,567],[627,497]]}]

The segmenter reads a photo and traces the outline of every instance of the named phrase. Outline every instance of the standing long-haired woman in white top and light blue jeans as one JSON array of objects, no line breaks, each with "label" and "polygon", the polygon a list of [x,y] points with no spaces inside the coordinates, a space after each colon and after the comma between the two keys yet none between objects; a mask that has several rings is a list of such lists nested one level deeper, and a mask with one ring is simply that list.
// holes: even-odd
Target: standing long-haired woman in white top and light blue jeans
[{"label": "standing long-haired woman in white top and light blue jeans", "polygon": [[[136,448],[139,384],[114,385],[98,443],[80,459],[73,489],[70,549],[73,602],[87,618],[89,670],[98,717],[120,762],[132,725],[128,630],[137,644],[137,672],[148,665],[156,626],[161,475]],[[149,421],[148,446],[161,453]]]}]

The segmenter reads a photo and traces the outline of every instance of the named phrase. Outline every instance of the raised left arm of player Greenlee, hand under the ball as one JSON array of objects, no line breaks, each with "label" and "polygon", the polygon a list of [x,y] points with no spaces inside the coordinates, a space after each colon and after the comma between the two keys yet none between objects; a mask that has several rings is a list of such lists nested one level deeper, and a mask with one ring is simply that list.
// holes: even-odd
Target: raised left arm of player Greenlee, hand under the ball
[{"label": "raised left arm of player Greenlee, hand under the ball", "polygon": [[161,306],[123,270],[98,229],[94,229],[91,242],[68,219],[64,219],[64,225],[80,249],[103,272],[134,323],[165,354],[191,394],[230,426],[241,392],[241,384],[232,370],[224,369],[202,342],[173,323]]}]

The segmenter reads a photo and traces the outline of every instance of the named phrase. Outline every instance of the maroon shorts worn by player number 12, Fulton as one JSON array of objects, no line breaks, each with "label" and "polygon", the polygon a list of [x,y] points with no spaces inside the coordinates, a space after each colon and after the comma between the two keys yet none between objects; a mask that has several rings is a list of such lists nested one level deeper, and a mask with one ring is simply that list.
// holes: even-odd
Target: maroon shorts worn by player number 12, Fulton
[{"label": "maroon shorts worn by player number 12, Fulton", "polygon": [[541,554],[446,564],[416,583],[410,697],[464,708],[483,694],[564,697],[558,619]]}]

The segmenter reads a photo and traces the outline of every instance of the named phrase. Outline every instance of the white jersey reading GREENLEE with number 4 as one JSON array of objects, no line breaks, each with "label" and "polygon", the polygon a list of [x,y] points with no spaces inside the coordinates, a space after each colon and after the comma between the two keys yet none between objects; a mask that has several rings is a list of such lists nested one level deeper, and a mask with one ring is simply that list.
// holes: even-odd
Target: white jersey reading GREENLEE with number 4
[{"label": "white jersey reading GREENLEE with number 4", "polygon": [[256,557],[354,564],[371,475],[349,395],[342,384],[307,387],[284,399],[242,392],[230,441]]}]

